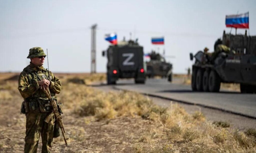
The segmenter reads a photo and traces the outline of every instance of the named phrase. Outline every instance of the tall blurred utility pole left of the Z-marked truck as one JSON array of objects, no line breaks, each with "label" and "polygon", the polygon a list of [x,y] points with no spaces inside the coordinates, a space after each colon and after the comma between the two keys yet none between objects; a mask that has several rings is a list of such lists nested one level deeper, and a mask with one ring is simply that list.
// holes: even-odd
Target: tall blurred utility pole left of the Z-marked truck
[{"label": "tall blurred utility pole left of the Z-marked truck", "polygon": [[96,73],[96,28],[97,24],[91,27],[91,73]]}]

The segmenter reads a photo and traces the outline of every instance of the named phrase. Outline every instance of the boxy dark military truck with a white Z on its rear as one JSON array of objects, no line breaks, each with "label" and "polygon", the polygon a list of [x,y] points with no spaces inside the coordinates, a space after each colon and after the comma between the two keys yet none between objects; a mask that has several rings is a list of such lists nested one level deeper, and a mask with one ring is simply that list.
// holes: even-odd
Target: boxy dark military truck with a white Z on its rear
[{"label": "boxy dark military truck with a white Z on its rear", "polygon": [[116,84],[119,78],[134,78],[135,83],[145,83],[143,47],[136,41],[122,41],[110,45],[102,56],[107,56],[107,83]]}]

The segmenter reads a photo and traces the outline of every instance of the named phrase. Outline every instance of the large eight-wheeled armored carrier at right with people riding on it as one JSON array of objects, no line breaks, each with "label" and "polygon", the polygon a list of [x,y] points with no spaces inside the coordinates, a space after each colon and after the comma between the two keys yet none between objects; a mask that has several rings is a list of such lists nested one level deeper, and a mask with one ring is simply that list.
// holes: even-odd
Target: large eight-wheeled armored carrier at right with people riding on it
[{"label": "large eight-wheeled armored carrier at right with people riding on it", "polygon": [[[225,49],[226,48],[226,49]],[[193,91],[219,92],[220,83],[240,83],[241,93],[256,93],[256,36],[226,34],[213,53],[199,51],[192,67]]]}]

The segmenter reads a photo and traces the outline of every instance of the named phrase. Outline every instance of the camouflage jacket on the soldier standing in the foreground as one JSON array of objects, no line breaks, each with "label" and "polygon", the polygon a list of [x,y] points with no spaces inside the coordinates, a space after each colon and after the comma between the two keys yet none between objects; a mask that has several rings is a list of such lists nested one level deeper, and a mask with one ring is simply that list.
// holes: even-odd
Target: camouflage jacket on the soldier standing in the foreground
[{"label": "camouflage jacket on the soldier standing in the foreground", "polygon": [[44,67],[36,67],[30,63],[19,76],[18,90],[24,99],[46,97],[45,93],[40,90],[38,81],[47,79],[50,81],[49,90],[51,96],[59,94],[61,91],[61,83],[58,78],[54,76],[51,71],[46,70]]}]

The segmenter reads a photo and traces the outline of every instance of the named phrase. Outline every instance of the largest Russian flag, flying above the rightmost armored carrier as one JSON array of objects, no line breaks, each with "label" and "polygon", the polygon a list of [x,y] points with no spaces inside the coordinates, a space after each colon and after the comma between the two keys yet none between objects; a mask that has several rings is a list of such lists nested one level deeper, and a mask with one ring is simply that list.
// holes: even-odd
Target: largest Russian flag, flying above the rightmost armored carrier
[{"label": "largest Russian flag, flying above the rightmost armored carrier", "polygon": [[226,27],[249,29],[249,12],[238,15],[226,15]]}]

